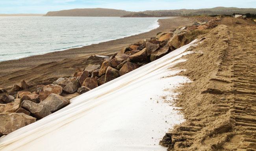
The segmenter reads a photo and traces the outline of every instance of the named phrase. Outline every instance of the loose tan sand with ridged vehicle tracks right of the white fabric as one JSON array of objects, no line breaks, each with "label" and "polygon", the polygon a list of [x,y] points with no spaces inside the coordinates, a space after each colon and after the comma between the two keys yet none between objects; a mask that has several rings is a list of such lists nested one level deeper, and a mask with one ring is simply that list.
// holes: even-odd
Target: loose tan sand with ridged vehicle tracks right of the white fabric
[{"label": "loose tan sand with ridged vehicle tracks right of the white fabric", "polygon": [[161,144],[176,151],[255,151],[256,24],[223,18],[204,36],[187,62],[176,65],[193,80],[177,90],[186,122]]}]

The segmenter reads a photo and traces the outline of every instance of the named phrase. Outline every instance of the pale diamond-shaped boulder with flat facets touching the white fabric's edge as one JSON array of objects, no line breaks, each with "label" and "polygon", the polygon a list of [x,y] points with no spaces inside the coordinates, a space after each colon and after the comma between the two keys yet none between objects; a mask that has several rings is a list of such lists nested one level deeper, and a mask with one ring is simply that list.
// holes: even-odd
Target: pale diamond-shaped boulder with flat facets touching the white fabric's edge
[{"label": "pale diamond-shaped boulder with flat facets touching the white fabric's edge", "polygon": [[50,112],[54,113],[55,111],[67,106],[69,103],[69,99],[52,93],[39,104],[45,106]]}]

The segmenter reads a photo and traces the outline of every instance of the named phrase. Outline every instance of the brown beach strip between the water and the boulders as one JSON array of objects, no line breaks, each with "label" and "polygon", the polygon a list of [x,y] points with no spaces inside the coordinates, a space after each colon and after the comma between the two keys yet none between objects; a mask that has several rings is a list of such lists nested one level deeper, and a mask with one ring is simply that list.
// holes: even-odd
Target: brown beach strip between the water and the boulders
[{"label": "brown beach strip between the water and the boulders", "polygon": [[[0,87],[11,87],[26,80],[30,84],[49,84],[58,77],[72,75],[76,67],[96,64],[88,62],[91,55],[110,55],[141,39],[156,36],[158,32],[173,30],[181,25],[190,25],[187,18],[176,17],[158,20],[160,27],[139,35],[129,36],[100,44],[68,49],[44,55],[30,56],[18,60],[0,62]],[[100,64],[98,62],[98,64]]]}]

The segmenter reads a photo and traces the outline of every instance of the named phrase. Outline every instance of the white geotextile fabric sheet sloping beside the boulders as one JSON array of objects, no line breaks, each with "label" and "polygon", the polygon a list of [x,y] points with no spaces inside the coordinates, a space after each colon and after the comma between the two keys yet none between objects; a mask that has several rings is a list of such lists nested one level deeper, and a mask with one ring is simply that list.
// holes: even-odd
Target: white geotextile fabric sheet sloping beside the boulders
[{"label": "white geotextile fabric sheet sloping beside the boulders", "polygon": [[0,151],[165,151],[159,141],[168,128],[184,119],[164,100],[171,101],[176,95],[173,89],[189,81],[170,76],[179,71],[168,68],[186,61],[179,58],[191,53],[184,51],[195,42],[77,96],[63,109],[0,138]]}]

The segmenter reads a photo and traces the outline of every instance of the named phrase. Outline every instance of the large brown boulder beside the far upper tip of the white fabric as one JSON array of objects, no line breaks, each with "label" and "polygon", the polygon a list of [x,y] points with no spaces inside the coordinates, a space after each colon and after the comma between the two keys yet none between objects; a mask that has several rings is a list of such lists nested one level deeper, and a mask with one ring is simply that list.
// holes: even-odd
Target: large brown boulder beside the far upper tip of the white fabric
[{"label": "large brown boulder beside the far upper tip of the white fabric", "polygon": [[173,35],[173,37],[168,41],[167,45],[171,48],[174,47],[175,49],[178,49],[179,47],[182,47],[187,42],[187,38],[185,36],[185,33],[181,33],[178,35]]}]

